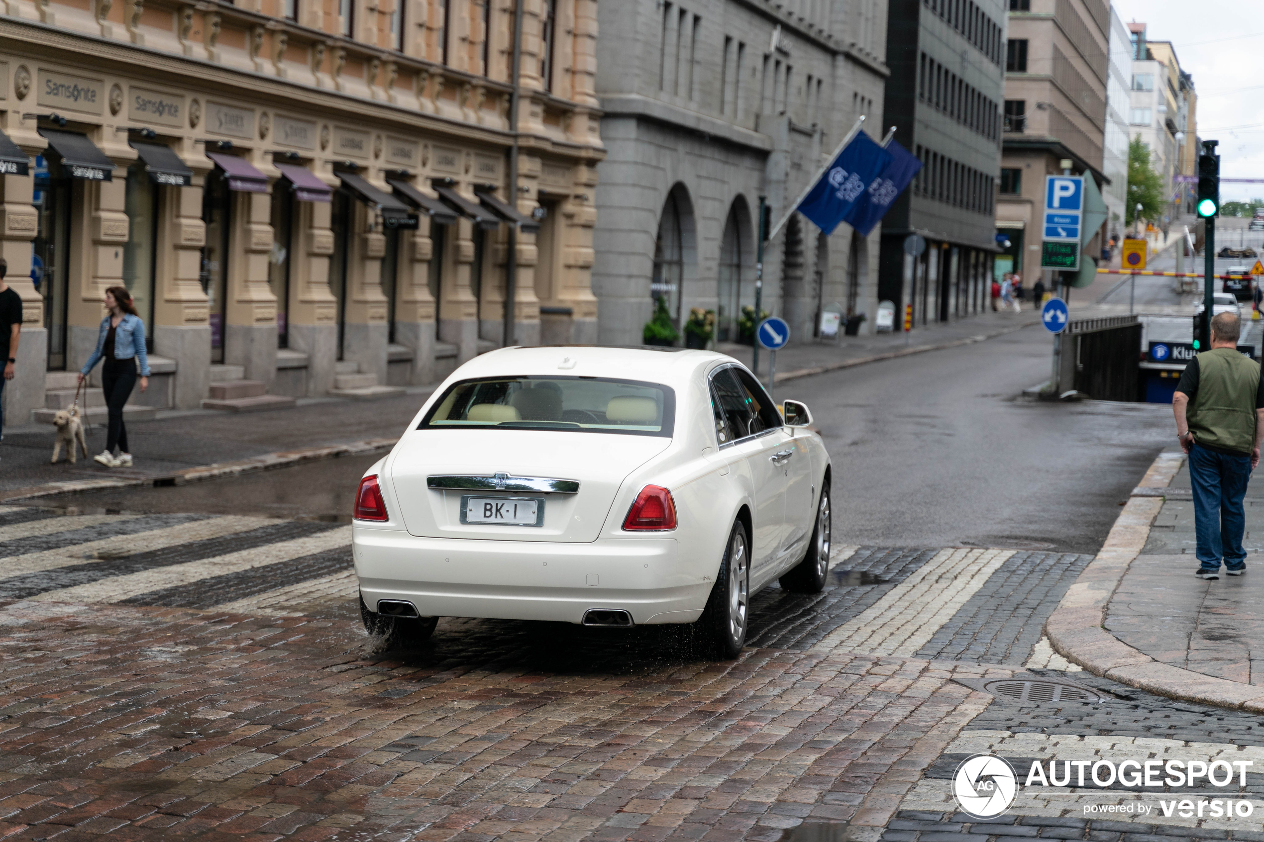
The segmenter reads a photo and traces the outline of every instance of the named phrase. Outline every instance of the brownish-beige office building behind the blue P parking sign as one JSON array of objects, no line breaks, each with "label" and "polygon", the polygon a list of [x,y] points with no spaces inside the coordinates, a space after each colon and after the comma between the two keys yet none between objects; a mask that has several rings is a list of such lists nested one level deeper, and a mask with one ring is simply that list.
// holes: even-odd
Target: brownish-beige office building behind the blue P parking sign
[{"label": "brownish-beige office building behind the blue P parking sign", "polygon": [[[1045,271],[1038,226],[1045,175],[1069,169],[1091,175],[1098,188],[1106,184],[1109,47],[1105,0],[1009,0],[996,232],[1010,246],[997,266],[1021,273],[1028,288]],[[1083,254],[1100,252],[1098,232]],[[1050,280],[1045,275],[1045,285]]]}]

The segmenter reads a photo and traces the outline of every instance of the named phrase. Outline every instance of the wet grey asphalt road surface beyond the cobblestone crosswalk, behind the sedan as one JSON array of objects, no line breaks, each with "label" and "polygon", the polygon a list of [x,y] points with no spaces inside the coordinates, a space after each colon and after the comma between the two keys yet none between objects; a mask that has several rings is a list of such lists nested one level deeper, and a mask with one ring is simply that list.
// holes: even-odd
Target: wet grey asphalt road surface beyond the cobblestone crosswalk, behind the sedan
[{"label": "wet grey asphalt road surface beyond the cobblestone crosswalk, behind the sedan", "polygon": [[[1119,504],[1174,444],[1170,409],[1021,400],[1024,388],[1048,377],[1050,348],[1049,335],[1031,327],[781,384],[777,398],[804,399],[825,436],[836,542],[1096,552]],[[38,502],[80,513],[345,519],[359,477],[378,458]]]}]

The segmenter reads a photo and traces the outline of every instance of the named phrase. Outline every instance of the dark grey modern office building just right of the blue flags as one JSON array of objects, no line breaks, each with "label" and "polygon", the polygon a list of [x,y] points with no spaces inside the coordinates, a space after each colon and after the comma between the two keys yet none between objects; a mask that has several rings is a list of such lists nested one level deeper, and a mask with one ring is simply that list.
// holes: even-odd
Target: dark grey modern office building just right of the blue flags
[{"label": "dark grey modern office building just right of the blue flags", "polygon": [[[891,0],[886,121],[921,170],[882,225],[880,297],[914,324],[988,305],[1005,95],[1004,0]],[[921,236],[920,255],[905,251]]]}]

